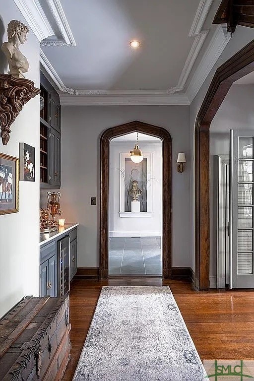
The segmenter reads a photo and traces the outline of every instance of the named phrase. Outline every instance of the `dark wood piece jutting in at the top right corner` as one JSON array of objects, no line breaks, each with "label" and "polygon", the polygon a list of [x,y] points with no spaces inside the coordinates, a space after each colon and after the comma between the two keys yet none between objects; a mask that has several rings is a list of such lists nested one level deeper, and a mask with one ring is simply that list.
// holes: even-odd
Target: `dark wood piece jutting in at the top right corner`
[{"label": "dark wood piece jutting in at the top right corner", "polygon": [[254,0],[222,0],[213,24],[227,24],[232,33],[237,25],[254,28]]}]

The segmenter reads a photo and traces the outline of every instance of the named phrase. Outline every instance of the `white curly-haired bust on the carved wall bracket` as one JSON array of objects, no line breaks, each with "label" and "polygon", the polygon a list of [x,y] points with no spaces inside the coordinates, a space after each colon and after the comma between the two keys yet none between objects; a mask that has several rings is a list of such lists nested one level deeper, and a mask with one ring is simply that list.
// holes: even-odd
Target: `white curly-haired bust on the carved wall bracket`
[{"label": "white curly-haired bust on the carved wall bracket", "polygon": [[20,44],[25,43],[28,32],[29,28],[21,21],[11,20],[7,28],[8,42],[4,42],[1,47],[8,60],[8,73],[19,78],[24,78],[23,73],[27,72],[29,67],[26,57],[19,50]]}]

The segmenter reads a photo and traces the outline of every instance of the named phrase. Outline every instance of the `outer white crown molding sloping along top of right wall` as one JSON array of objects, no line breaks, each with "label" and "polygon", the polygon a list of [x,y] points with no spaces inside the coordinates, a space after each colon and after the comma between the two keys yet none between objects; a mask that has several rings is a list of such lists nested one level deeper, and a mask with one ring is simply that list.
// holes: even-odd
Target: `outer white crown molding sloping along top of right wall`
[{"label": "outer white crown molding sloping along top of right wall", "polygon": [[225,49],[229,40],[231,39],[231,33],[227,32],[226,28],[219,25],[200,61],[198,64],[190,84],[186,90],[186,95],[190,100],[190,103],[195,98],[200,87],[207,78],[209,72],[213,68],[214,64],[220,57],[221,53]]}]

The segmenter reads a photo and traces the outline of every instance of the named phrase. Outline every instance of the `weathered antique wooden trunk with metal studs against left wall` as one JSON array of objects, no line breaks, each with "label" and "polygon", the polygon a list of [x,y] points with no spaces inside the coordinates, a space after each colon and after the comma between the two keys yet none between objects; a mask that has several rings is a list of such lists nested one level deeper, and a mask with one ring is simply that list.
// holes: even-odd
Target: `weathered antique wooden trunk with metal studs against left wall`
[{"label": "weathered antique wooden trunk with metal studs against left wall", "polygon": [[68,297],[26,297],[0,320],[0,381],[62,380],[69,331]]}]

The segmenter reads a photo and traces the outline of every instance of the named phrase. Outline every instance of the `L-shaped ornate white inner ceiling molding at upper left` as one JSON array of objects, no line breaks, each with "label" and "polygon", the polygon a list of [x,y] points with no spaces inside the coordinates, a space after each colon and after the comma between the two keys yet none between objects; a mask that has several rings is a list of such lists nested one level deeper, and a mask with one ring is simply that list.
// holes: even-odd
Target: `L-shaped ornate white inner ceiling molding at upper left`
[{"label": "L-shaped ornate white inner ceiling molding at upper left", "polygon": [[46,0],[63,40],[42,41],[42,46],[77,46],[60,0]]}]

